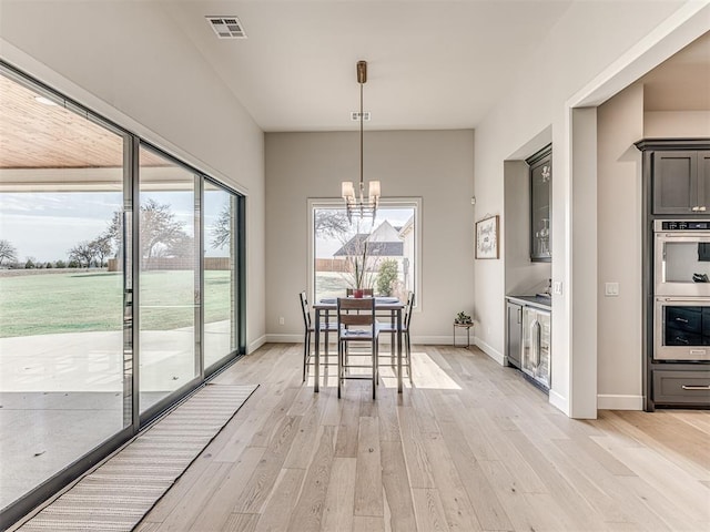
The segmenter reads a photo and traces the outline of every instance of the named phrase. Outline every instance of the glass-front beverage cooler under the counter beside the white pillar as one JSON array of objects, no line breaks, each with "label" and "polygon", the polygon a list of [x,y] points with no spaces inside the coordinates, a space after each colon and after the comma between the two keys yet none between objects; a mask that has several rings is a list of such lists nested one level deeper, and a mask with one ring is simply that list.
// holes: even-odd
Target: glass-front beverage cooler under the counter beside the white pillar
[{"label": "glass-front beverage cooler under the counter beside the white pillar", "polygon": [[550,324],[549,310],[524,307],[520,369],[545,390],[550,389]]}]

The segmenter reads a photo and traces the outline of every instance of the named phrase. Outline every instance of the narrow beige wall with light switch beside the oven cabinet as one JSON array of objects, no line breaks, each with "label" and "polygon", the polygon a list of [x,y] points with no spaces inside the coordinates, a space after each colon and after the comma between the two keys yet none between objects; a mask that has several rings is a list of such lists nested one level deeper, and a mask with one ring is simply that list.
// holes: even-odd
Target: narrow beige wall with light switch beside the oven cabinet
[{"label": "narrow beige wall with light switch beside the oven cabinet", "polygon": [[[643,86],[598,108],[598,393],[599,408],[641,409],[641,152]],[[605,283],[619,296],[606,297]]]}]

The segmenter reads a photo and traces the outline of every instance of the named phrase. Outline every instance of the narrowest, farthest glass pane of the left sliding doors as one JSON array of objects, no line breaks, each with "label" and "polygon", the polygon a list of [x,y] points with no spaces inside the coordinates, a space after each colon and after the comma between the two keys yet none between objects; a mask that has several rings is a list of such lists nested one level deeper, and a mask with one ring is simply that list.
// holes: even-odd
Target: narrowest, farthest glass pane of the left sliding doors
[{"label": "narrowest, farthest glass pane of the left sliding doors", "polygon": [[236,197],[204,184],[204,366],[237,350],[235,285]]}]

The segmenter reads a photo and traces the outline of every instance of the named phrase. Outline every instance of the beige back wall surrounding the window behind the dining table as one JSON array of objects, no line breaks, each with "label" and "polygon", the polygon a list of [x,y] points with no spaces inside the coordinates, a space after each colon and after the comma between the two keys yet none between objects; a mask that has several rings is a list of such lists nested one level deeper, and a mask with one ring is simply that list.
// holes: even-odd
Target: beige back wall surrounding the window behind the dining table
[{"label": "beige back wall surrounding the window behind the dining table", "polygon": [[[414,342],[447,344],[455,315],[473,310],[474,132],[365,132],[365,180],[383,197],[422,197],[419,310]],[[266,134],[266,330],[273,341],[303,337],[297,295],[307,284],[307,198],[338,198],[358,178],[358,134]],[[494,260],[498,263],[497,260]],[[278,317],[285,324],[278,325]]]}]

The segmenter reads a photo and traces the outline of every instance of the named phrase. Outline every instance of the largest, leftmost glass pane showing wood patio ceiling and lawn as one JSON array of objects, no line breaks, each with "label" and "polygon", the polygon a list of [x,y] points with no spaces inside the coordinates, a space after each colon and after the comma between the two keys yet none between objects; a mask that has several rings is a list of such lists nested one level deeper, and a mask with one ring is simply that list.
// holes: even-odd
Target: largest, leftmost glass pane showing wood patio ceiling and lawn
[{"label": "largest, leftmost glass pane showing wood patio ceiling and lawn", "polygon": [[131,423],[124,140],[38,96],[0,75],[0,508]]}]

